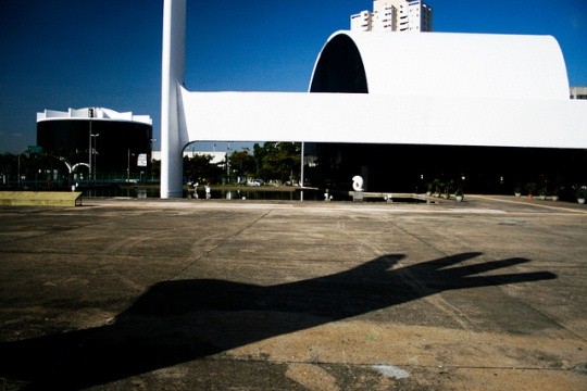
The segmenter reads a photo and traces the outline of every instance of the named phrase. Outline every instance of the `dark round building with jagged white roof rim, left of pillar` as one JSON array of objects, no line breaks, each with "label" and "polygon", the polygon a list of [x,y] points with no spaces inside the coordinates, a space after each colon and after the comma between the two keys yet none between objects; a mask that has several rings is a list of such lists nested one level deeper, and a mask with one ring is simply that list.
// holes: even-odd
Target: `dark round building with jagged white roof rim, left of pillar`
[{"label": "dark round building with jagged white roof rim, left of pillar", "polygon": [[77,171],[83,177],[91,167],[95,179],[138,178],[151,160],[152,134],[151,117],[132,112],[84,108],[37,113],[37,144],[71,166],[84,165]]}]

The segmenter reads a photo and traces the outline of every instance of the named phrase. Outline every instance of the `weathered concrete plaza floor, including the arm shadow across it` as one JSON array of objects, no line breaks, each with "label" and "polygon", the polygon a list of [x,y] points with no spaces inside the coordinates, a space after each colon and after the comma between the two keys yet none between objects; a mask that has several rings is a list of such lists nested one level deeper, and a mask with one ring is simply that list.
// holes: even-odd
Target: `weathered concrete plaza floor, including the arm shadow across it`
[{"label": "weathered concrete plaza floor, including the arm shadow across it", "polygon": [[0,207],[0,390],[586,390],[587,206]]}]

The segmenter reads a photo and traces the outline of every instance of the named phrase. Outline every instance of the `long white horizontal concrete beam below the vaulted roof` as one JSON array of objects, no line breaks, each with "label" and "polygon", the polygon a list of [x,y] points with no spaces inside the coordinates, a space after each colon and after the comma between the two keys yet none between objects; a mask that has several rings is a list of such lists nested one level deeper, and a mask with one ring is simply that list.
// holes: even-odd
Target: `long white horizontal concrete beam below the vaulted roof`
[{"label": "long white horizontal concrete beam below the vaulted roof", "polygon": [[587,148],[584,100],[191,92],[178,88],[180,144],[272,140]]}]

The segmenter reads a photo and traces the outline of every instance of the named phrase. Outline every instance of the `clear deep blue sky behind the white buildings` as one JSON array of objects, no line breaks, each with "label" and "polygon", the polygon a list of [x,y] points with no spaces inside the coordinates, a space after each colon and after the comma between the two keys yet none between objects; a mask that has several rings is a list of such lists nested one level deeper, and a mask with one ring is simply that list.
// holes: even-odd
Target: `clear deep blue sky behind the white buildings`
[{"label": "clear deep blue sky behind the white buildings", "polygon": [[[571,86],[587,86],[586,0],[427,3],[435,31],[554,36]],[[188,0],[186,86],[305,91],[328,36],[361,10],[372,1]],[[148,114],[160,139],[162,14],[163,0],[2,0],[0,152],[35,144],[45,109]]]}]

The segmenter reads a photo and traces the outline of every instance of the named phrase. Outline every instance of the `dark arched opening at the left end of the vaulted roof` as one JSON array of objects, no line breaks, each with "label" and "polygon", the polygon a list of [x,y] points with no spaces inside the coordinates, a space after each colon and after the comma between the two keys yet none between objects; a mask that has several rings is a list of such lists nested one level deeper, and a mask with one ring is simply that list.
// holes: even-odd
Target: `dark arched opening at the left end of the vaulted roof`
[{"label": "dark arched opening at the left end of the vaulted roof", "polygon": [[365,67],[354,41],[337,35],[317,60],[310,92],[369,93]]}]

